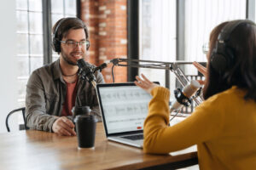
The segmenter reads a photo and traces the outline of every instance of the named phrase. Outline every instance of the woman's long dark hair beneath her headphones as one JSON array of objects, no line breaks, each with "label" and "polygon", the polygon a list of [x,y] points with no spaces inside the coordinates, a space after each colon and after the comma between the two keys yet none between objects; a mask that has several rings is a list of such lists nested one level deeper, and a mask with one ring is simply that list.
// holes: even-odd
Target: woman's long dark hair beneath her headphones
[{"label": "woman's long dark hair beneath her headphones", "polygon": [[232,65],[220,74],[211,65],[212,51],[216,46],[218,35],[229,22],[216,26],[210,36],[207,65],[207,81],[204,87],[204,98],[237,86],[246,89],[245,99],[256,101],[256,26],[249,22],[236,26],[230,34],[225,47],[232,49],[234,59]]}]

